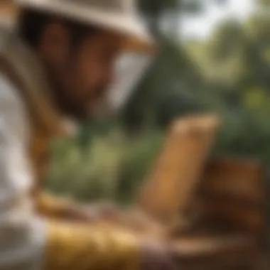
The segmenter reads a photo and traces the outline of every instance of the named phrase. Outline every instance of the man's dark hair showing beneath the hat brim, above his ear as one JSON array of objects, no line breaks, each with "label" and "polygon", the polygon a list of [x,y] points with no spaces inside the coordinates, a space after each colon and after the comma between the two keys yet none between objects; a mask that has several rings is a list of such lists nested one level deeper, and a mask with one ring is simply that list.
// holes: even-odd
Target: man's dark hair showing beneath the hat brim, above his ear
[{"label": "man's dark hair showing beneath the hat brim, above his ear", "polygon": [[41,42],[41,37],[45,27],[52,21],[61,21],[67,26],[70,31],[73,45],[82,42],[87,36],[93,35],[97,32],[94,26],[85,26],[77,21],[72,21],[69,18],[56,16],[54,14],[44,13],[32,9],[25,9],[21,12],[18,21],[18,33],[23,38],[23,41],[37,47]]}]

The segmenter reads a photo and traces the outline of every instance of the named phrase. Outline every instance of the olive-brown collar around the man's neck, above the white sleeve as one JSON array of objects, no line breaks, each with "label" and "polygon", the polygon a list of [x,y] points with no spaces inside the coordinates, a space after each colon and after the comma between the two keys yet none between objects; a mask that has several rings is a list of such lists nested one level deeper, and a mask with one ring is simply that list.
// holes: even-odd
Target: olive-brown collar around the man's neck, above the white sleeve
[{"label": "olive-brown collar around the man's neck, above the white sleeve", "polygon": [[16,31],[0,28],[0,55],[23,83],[23,94],[31,104],[32,113],[50,136],[72,136],[75,122],[60,114],[50,97],[50,85],[41,63],[31,49],[18,38]]}]

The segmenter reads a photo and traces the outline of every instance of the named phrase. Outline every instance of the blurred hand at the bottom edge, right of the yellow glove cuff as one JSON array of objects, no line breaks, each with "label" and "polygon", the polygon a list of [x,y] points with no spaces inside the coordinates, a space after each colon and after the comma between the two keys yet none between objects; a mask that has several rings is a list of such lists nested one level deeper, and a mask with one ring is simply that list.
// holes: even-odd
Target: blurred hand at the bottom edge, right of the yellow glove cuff
[{"label": "blurred hand at the bottom edge, right of the yellow glove cuff", "polygon": [[141,265],[139,269],[175,270],[177,266],[166,245],[149,241],[141,246]]}]

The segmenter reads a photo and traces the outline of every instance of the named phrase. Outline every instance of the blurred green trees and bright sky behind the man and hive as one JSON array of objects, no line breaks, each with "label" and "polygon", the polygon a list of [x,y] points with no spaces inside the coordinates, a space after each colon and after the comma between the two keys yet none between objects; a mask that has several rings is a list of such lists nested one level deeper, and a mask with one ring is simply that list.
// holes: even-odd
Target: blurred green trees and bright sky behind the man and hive
[{"label": "blurred green trees and bright sky behind the man and hive", "polygon": [[[121,113],[52,142],[47,188],[126,205],[148,175],[175,117],[222,118],[212,155],[270,163],[269,0],[141,0],[158,55]],[[130,70],[129,72],[132,72]]]}]

